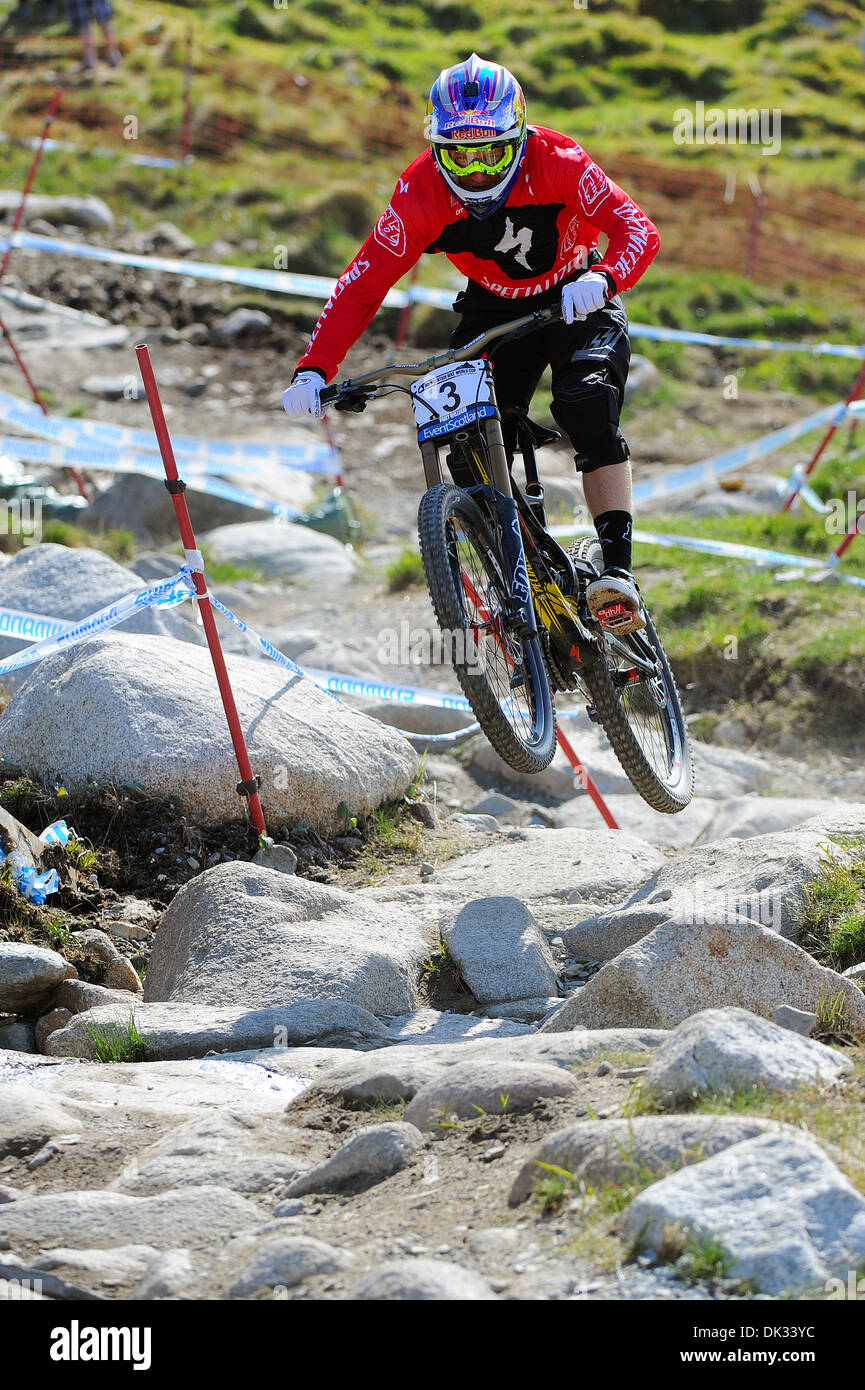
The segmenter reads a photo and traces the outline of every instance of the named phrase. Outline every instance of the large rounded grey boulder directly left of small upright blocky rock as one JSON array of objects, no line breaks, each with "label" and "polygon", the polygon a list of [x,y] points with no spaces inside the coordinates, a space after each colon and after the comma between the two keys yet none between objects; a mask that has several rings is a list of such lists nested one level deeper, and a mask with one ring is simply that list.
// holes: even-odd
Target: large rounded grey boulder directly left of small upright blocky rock
[{"label": "large rounded grey boulder directly left of small upright blocky rock", "polygon": [[250,863],[217,865],[167,909],[145,997],[248,1008],[342,999],[405,1013],[427,955],[410,920],[357,894]]}]

